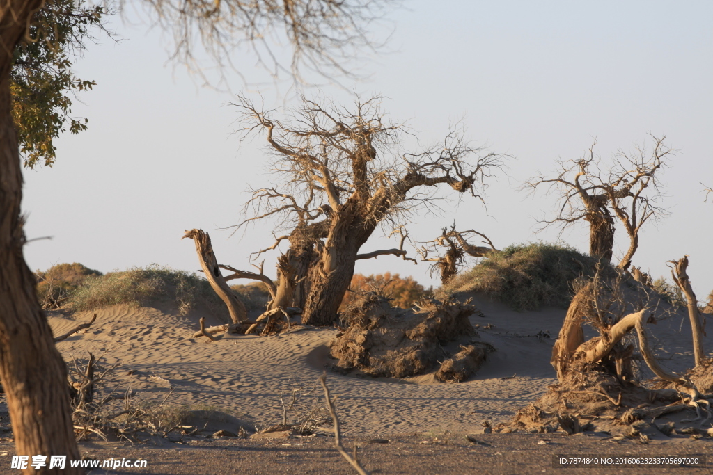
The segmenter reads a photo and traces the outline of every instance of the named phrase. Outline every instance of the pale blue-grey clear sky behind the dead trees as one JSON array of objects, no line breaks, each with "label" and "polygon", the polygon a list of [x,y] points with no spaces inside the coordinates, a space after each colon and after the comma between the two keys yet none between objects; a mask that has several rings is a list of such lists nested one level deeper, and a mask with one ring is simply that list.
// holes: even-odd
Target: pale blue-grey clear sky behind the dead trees
[{"label": "pale blue-grey clear sky behind the dead trees", "polygon": [[[53,167],[24,172],[33,269],[81,262],[103,272],[150,263],[195,271],[193,243],[180,239],[192,228],[209,232],[218,261],[236,268],[250,268],[250,254],[272,244],[270,222],[229,229],[245,219],[247,189],[270,183],[264,138],[240,142],[230,102],[262,96],[279,115],[297,103],[294,88],[266,78],[246,51],[235,52],[236,71],[223,70],[222,83],[209,58],[204,75],[190,73],[170,61],[170,35],[141,18],[134,10],[114,18],[121,41],[100,36],[76,61],[76,74],[97,83],[73,107],[88,130],[56,141]],[[383,96],[382,110],[412,134],[404,149],[437,143],[461,120],[473,145],[510,157],[488,181],[487,208],[443,194],[440,210],[409,226],[414,241],[456,222],[499,249],[549,241],[586,252],[585,223],[539,231],[557,200],[521,191],[523,181],[583,157],[595,138],[607,163],[617,150],[650,145],[649,134],[665,135],[677,150],[660,176],[669,214],[645,225],[633,261],[657,278],[688,254],[703,300],[713,289],[713,196],[704,202],[701,184],[713,187],[711,18],[710,1],[405,1],[371,29],[376,41],[387,38],[385,48],[347,63],[360,78],[303,92],[344,105],[354,92]],[[617,229],[615,261],[627,244]],[[377,231],[362,251],[396,245]],[[260,258],[268,275],[276,258]],[[438,284],[424,262],[382,256],[356,266],[384,271]]]}]

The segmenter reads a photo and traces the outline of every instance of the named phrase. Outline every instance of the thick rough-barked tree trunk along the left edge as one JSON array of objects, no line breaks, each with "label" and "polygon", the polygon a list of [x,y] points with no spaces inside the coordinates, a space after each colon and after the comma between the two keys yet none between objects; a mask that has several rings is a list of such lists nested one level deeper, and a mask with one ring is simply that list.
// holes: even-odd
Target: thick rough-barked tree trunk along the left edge
[{"label": "thick rough-barked tree trunk along the left edge", "polygon": [[[11,117],[11,52],[40,6],[36,0],[11,0],[0,6],[0,377],[17,454],[78,459],[66,366],[54,346],[22,251],[22,174]],[[79,474],[81,469],[67,463],[63,470],[36,471],[29,466],[25,473]]]}]

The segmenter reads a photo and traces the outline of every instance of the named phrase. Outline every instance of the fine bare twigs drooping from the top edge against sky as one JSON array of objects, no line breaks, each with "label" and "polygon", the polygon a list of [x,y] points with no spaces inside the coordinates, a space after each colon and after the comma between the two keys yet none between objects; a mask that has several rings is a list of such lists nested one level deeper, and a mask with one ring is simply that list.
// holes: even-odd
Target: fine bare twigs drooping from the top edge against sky
[{"label": "fine bare twigs drooping from the top edge against sky", "polygon": [[[125,0],[122,2],[122,6]],[[155,23],[173,33],[173,58],[200,73],[196,40],[220,69],[231,67],[233,51],[252,51],[257,65],[277,78],[282,73],[304,83],[302,68],[323,78],[354,78],[346,66],[365,49],[383,45],[369,31],[382,19],[390,0],[148,0]],[[287,43],[289,64],[280,59]],[[277,46],[276,46],[277,45]],[[244,48],[247,46],[247,48]],[[275,50],[277,48],[277,51]],[[245,78],[243,78],[245,80]]]}]

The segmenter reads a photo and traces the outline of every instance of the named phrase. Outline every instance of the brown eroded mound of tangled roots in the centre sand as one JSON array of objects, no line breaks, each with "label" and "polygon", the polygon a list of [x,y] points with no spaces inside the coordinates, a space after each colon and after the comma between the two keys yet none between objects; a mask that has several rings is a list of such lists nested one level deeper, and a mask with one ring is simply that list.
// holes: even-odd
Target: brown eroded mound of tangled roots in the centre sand
[{"label": "brown eroded mound of tangled roots in the centre sand", "polygon": [[[371,376],[411,377],[436,368],[436,379],[461,382],[478,371],[494,348],[476,341],[464,304],[428,301],[421,310],[392,308],[373,293],[359,296],[344,312],[348,326],[330,343],[333,369]],[[442,362],[441,362],[442,361]]]}]

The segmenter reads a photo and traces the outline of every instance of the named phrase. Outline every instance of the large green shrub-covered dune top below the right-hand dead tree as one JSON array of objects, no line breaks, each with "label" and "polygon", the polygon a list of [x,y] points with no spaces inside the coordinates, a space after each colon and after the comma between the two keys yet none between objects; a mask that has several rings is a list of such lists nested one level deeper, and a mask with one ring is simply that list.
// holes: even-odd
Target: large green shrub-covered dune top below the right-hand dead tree
[{"label": "large green shrub-covered dune top below the right-hand dead tree", "polygon": [[520,311],[544,305],[566,308],[573,281],[593,276],[596,265],[595,259],[568,246],[518,244],[491,252],[435,293],[442,299],[458,292],[481,292]]}]

